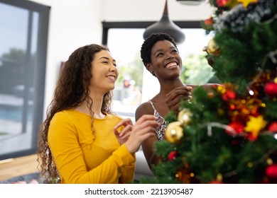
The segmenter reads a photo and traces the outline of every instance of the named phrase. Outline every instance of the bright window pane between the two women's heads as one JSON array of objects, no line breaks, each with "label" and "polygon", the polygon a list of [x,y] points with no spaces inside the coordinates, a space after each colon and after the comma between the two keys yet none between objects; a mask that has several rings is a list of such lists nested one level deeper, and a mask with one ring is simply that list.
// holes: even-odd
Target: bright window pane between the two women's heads
[{"label": "bright window pane between the two women's heads", "polygon": [[[136,107],[141,104],[143,63],[140,50],[144,29],[109,29],[108,47],[119,69],[114,89],[114,111],[134,121]],[[124,40],[124,42],[122,42]]]}]

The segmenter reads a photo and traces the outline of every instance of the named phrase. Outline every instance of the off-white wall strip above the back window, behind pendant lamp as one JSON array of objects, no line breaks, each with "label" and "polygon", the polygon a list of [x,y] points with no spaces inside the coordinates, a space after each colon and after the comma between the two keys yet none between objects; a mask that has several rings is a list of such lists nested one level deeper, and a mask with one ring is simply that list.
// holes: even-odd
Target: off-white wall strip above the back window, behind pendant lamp
[{"label": "off-white wall strip above the back window, behind pendant lamp", "polygon": [[[104,0],[105,21],[158,21],[163,14],[165,0]],[[168,0],[168,16],[173,21],[193,21],[208,18],[211,6],[204,2],[188,6]]]}]

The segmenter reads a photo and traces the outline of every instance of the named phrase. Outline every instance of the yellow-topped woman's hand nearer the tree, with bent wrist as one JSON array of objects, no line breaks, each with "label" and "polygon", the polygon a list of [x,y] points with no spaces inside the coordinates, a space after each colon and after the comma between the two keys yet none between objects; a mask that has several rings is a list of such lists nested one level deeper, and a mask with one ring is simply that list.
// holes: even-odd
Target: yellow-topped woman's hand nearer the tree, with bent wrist
[{"label": "yellow-topped woman's hand nearer the tree, with bent wrist", "polygon": [[156,136],[155,127],[159,125],[156,119],[153,115],[143,115],[136,121],[131,129],[129,139],[125,143],[130,153],[139,151],[141,143],[148,137]]}]

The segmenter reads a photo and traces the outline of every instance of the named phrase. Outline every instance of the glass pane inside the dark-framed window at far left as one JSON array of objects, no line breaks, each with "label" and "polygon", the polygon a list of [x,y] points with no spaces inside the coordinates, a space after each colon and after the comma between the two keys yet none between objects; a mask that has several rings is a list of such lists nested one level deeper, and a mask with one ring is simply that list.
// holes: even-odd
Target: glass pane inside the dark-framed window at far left
[{"label": "glass pane inside the dark-framed window at far left", "polygon": [[38,13],[0,4],[0,155],[32,146],[37,29]]}]

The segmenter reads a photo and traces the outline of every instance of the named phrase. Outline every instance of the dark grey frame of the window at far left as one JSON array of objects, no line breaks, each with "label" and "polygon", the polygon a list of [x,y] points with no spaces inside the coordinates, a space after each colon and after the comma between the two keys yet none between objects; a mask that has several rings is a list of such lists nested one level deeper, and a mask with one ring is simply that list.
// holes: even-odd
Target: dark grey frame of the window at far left
[{"label": "dark grey frame of the window at far left", "polygon": [[[22,149],[18,151],[12,151],[11,153],[4,153],[0,155],[0,160],[7,158],[16,158],[20,156],[26,156],[34,154],[37,151],[38,144],[38,130],[40,128],[40,123],[43,120],[43,105],[44,105],[44,92],[45,92],[45,71],[46,71],[46,57],[48,48],[48,26],[49,26],[49,13],[50,6],[45,6],[32,1],[26,0],[0,0],[2,4],[7,4],[9,6],[15,6],[18,8],[26,9],[30,14],[37,12],[39,14],[37,35],[37,64],[35,78],[35,95],[34,95],[34,105],[33,105],[33,117],[32,117],[32,129],[31,129],[31,148]],[[30,20],[29,20],[30,22]],[[28,23],[28,25],[31,25]],[[31,33],[30,33],[31,34]],[[27,42],[30,42],[32,37],[28,35]],[[30,56],[31,52],[26,52],[26,57]],[[22,121],[23,122],[23,121]]]}]

